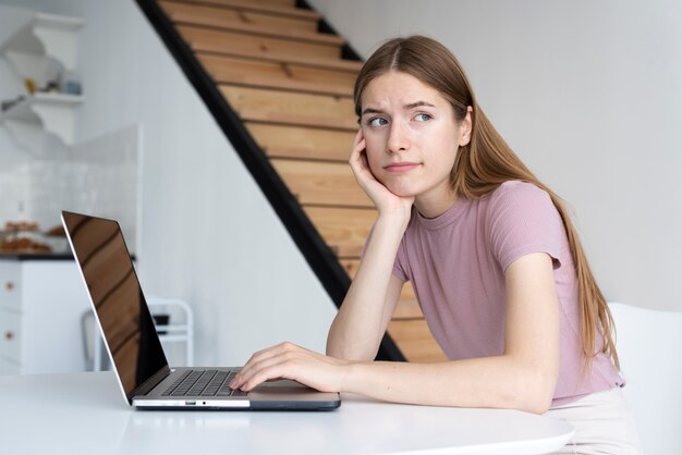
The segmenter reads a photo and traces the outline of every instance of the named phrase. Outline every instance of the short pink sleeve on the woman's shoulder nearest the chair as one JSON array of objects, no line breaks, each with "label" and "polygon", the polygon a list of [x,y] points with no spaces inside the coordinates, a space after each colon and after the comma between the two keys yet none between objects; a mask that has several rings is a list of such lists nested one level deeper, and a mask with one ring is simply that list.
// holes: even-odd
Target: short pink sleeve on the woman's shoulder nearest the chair
[{"label": "short pink sleeve on the woman's shoulder nearest the chair", "polygon": [[524,182],[506,182],[491,195],[487,229],[492,255],[507,270],[514,260],[532,253],[547,253],[555,269],[565,228],[547,192]]}]

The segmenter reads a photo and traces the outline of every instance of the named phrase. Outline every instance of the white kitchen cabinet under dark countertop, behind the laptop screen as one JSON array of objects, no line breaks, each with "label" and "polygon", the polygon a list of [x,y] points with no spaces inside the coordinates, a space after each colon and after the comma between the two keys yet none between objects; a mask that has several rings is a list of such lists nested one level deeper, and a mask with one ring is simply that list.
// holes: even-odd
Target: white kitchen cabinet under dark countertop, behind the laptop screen
[{"label": "white kitchen cabinet under dark countertop, behind the laptop screen", "polygon": [[0,374],[85,371],[89,310],[72,258],[0,257]]}]

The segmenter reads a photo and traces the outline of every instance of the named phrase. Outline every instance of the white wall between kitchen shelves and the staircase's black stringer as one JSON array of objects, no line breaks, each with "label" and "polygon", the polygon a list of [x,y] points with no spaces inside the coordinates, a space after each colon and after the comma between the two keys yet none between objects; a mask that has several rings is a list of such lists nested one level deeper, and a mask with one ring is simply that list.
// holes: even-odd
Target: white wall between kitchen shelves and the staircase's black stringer
[{"label": "white wall between kitchen shelves and the staircase's black stringer", "polygon": [[194,306],[196,364],[241,364],[283,340],[324,351],[333,304],[134,1],[0,4],[86,21],[77,138],[141,126],[138,271],[148,294]]}]

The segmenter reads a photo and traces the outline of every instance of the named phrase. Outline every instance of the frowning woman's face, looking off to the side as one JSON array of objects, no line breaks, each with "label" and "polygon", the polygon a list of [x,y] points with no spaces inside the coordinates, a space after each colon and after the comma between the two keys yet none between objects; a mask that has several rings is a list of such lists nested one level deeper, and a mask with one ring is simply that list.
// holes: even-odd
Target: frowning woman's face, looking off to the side
[{"label": "frowning woman's face, looking off to the side", "polygon": [[470,128],[460,127],[450,102],[416,77],[391,71],[365,87],[361,104],[375,177],[395,195],[415,196],[417,206],[419,198],[451,196],[450,171]]}]

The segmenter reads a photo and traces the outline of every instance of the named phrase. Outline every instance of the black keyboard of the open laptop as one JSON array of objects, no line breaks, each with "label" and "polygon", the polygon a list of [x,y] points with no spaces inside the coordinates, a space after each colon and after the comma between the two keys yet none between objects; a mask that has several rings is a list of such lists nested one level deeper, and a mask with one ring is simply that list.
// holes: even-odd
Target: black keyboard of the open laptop
[{"label": "black keyboard of the open laptop", "polygon": [[161,396],[246,396],[230,388],[235,376],[229,370],[187,370]]}]

